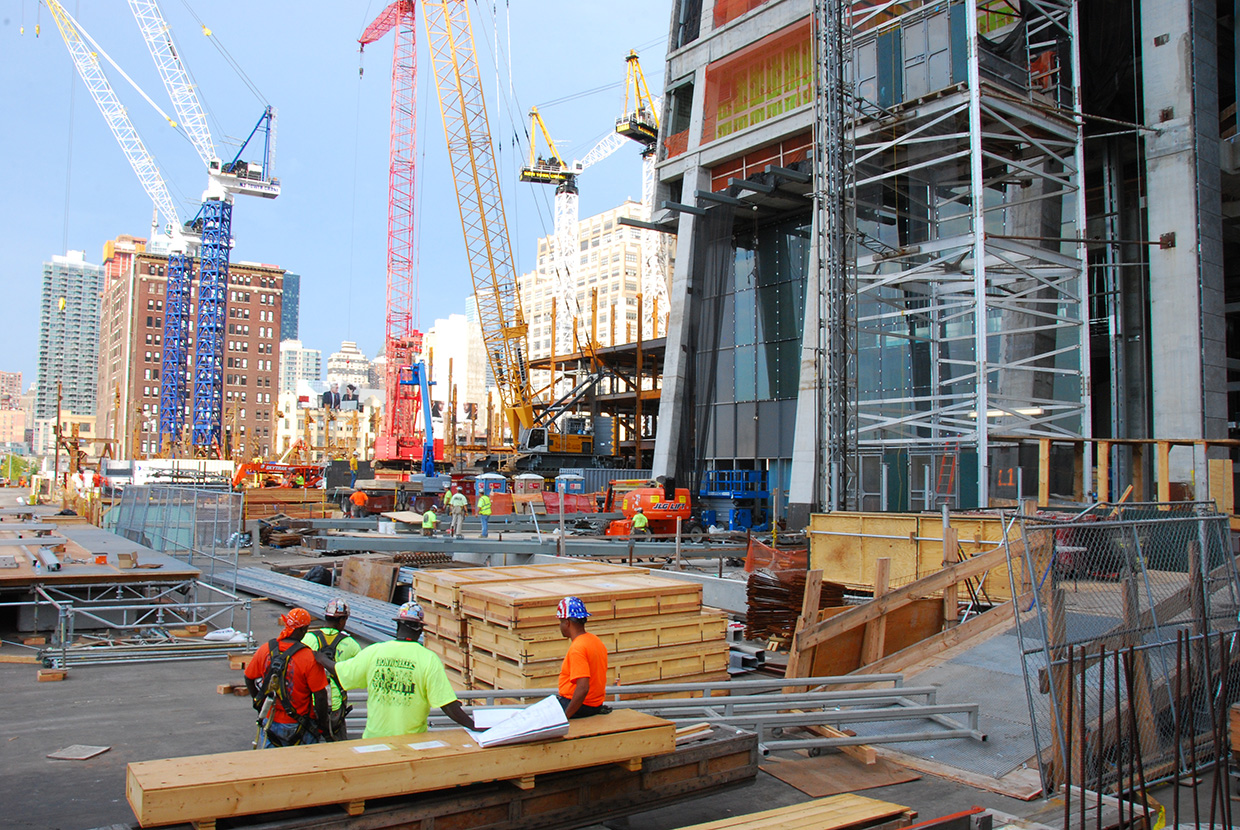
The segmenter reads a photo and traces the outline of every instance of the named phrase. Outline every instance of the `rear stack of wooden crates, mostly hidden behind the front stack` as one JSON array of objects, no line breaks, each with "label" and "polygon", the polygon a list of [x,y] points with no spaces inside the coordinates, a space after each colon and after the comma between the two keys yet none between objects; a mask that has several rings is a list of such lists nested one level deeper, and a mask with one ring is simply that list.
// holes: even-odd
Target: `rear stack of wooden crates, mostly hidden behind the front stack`
[{"label": "rear stack of wooden crates, mostly hidden behind the front stack", "polygon": [[606,562],[565,562],[564,564],[520,564],[496,568],[459,568],[418,571],[413,593],[427,614],[427,645],[444,661],[453,680],[469,682],[469,628],[461,612],[460,591],[465,586],[556,579],[601,573],[620,573],[631,568]]}]

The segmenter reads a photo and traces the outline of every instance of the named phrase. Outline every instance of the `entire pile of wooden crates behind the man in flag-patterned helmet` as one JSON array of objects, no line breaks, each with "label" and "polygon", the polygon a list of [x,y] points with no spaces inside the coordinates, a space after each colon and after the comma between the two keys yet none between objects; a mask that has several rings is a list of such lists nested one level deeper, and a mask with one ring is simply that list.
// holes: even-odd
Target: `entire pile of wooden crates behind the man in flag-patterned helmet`
[{"label": "entire pile of wooden crates behind the man in flag-patterned helmet", "polygon": [[429,648],[470,689],[554,686],[568,648],[556,607],[580,597],[609,653],[608,682],[693,682],[728,674],[727,617],[701,586],[605,562],[427,571],[414,576]]}]

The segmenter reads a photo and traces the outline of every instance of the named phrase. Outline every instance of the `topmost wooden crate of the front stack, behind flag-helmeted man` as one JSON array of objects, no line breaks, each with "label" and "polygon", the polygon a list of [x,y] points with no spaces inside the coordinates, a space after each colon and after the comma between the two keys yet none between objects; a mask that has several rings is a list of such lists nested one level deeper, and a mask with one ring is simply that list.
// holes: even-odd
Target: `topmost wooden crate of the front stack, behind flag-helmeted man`
[{"label": "topmost wooden crate of the front stack, behind flag-helmeted man", "polygon": [[702,586],[653,574],[603,574],[461,588],[461,612],[511,629],[557,625],[556,605],[580,597],[594,620],[702,610]]}]

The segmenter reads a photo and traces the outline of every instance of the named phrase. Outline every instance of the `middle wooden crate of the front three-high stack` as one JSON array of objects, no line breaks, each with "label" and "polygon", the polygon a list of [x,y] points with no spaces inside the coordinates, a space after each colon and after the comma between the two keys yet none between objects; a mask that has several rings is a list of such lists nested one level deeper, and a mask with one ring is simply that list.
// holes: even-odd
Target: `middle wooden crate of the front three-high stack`
[{"label": "middle wooden crate of the front three-high stack", "polygon": [[[608,654],[619,654],[691,643],[724,643],[728,615],[712,608],[698,614],[634,617],[598,623],[591,619],[587,630],[603,640]],[[568,648],[558,625],[513,630],[476,619],[469,622],[469,643],[471,648],[517,664],[558,660]]]}]

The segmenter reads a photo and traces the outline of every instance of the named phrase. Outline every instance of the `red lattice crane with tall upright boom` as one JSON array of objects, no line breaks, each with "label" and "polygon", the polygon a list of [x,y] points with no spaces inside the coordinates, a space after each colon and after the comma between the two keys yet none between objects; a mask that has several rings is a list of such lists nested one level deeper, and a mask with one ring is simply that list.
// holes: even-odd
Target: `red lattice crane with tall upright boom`
[{"label": "red lattice crane with tall upright boom", "polygon": [[[392,122],[388,143],[388,238],[387,238],[387,325],[383,354],[387,356],[383,427],[374,442],[381,462],[412,460],[423,454],[417,435],[419,385],[408,377],[422,352],[422,332],[414,328],[414,156],[417,154],[417,6],[398,0],[366,27],[358,40],[367,43],[394,32],[392,50]],[[430,424],[425,424],[430,429]]]}]

